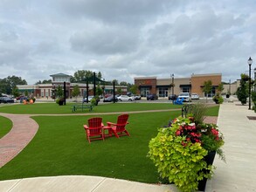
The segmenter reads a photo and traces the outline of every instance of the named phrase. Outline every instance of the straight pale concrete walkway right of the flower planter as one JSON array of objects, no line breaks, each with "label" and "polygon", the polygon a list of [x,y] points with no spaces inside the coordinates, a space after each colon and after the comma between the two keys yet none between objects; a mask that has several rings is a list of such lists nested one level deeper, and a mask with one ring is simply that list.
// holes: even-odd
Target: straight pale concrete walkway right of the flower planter
[{"label": "straight pale concrete walkway right of the flower planter", "polygon": [[256,191],[256,113],[240,102],[220,105],[218,127],[225,136],[225,161],[215,157],[206,191]]}]

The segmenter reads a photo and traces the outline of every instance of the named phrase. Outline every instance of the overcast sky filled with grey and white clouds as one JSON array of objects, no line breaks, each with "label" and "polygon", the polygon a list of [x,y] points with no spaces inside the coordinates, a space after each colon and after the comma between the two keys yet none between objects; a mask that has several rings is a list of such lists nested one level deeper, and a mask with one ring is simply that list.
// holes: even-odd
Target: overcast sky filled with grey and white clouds
[{"label": "overcast sky filled with grey and white clouds", "polygon": [[0,0],[0,79],[28,84],[63,72],[104,79],[223,81],[256,67],[255,0]]}]

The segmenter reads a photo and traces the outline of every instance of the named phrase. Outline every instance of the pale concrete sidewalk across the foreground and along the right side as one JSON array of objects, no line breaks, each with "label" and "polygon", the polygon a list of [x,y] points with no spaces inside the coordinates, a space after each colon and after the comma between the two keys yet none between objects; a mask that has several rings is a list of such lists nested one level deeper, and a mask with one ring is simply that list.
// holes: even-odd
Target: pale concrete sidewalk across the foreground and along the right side
[{"label": "pale concrete sidewalk across the foreground and along the right side", "polygon": [[[256,113],[239,103],[220,106],[218,127],[225,135],[226,163],[215,158],[215,175],[207,182],[206,191],[256,191]],[[178,191],[174,185],[156,185],[129,182],[98,176],[67,175],[37,177],[0,182],[0,191]]]}]

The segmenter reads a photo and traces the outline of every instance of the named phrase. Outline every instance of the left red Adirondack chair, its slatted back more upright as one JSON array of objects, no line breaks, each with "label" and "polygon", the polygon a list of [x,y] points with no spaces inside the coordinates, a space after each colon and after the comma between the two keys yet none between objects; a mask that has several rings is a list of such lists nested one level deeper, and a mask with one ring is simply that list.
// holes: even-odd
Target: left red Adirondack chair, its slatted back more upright
[{"label": "left red Adirondack chair, its slatted back more upright", "polygon": [[88,120],[88,126],[84,125],[84,128],[86,130],[86,136],[89,143],[91,143],[93,140],[104,141],[104,133],[102,127],[104,127],[102,118],[94,117]]}]

